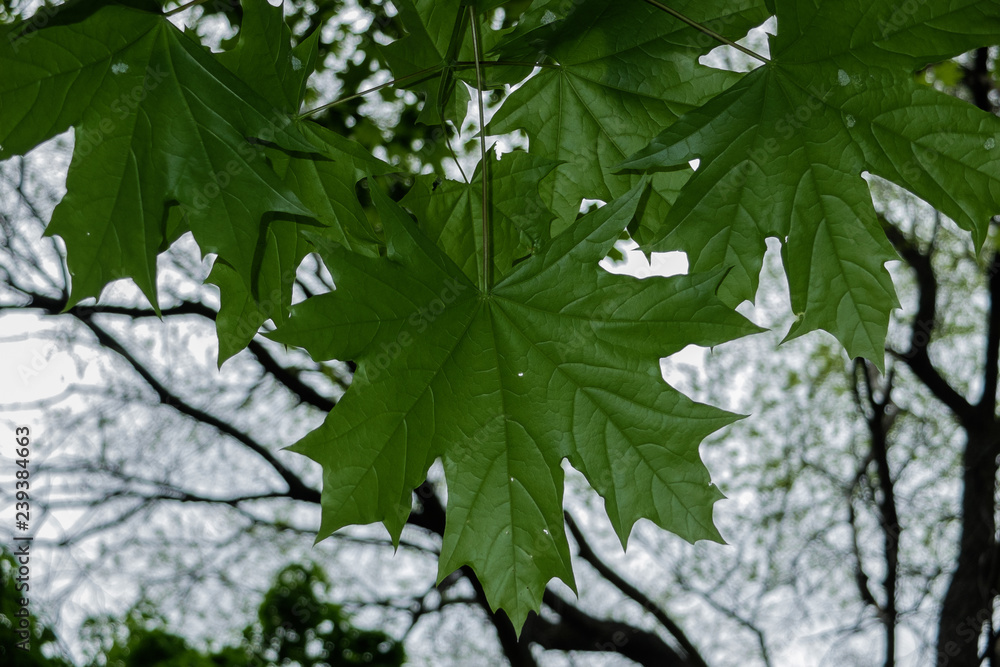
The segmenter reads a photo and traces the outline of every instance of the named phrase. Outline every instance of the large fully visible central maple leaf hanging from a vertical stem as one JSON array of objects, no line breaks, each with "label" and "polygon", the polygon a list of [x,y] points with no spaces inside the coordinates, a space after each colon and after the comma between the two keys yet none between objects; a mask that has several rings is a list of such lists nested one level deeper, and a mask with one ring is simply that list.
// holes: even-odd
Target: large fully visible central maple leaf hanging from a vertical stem
[{"label": "large fully visible central maple leaf hanging from a vertical stem", "polygon": [[315,359],[358,363],[325,423],[293,447],[323,465],[319,538],[382,521],[398,540],[412,490],[440,457],[439,574],[470,565],[518,629],[549,579],[573,585],[563,459],[604,497],[623,544],[643,517],[719,540],[712,506],[722,495],[698,443],[734,416],[665,384],[659,359],[757,329],[715,297],[719,273],[639,280],[597,266],[642,187],[581,218],[488,293],[373,191],[387,256],[314,238],[337,289],[294,306],[272,334]]}]

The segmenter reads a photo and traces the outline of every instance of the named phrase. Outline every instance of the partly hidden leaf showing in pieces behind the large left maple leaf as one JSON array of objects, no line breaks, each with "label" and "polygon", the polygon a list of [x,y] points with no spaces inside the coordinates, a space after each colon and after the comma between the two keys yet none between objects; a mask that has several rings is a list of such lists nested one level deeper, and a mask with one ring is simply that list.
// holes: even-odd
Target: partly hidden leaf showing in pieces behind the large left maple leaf
[{"label": "partly hidden leaf showing in pieces behind the large left maple leaf", "polygon": [[[318,35],[314,32],[293,49],[281,8],[267,0],[247,0],[238,44],[216,58],[275,107],[294,114],[316,64]],[[307,225],[355,251],[378,252],[379,238],[358,203],[355,184],[367,174],[386,173],[389,166],[320,125],[300,120],[296,128],[314,152],[268,148],[266,155],[281,182],[296,193],[315,221],[269,215],[263,254],[250,285],[234,280],[225,261],[216,263],[209,282],[220,291],[216,318],[220,366],[245,348],[265,321],[271,319],[280,326],[287,317],[296,268],[312,251],[299,234],[300,226]]]}]

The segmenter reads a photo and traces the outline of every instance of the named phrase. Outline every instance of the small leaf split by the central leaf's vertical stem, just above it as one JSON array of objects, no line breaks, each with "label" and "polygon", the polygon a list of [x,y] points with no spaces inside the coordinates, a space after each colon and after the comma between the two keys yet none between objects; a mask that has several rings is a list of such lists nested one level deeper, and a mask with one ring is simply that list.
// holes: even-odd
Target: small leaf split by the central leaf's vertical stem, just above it
[{"label": "small leaf split by the central leaf's vertical stem, just above it", "polygon": [[[495,160],[487,153],[489,210],[493,223],[495,275],[507,275],[514,264],[536,252],[548,240],[552,215],[538,194],[538,183],[557,165],[524,151]],[[477,166],[471,183],[441,182],[420,176],[400,204],[421,221],[434,239],[472,281],[478,281],[483,246],[483,173]]]}]

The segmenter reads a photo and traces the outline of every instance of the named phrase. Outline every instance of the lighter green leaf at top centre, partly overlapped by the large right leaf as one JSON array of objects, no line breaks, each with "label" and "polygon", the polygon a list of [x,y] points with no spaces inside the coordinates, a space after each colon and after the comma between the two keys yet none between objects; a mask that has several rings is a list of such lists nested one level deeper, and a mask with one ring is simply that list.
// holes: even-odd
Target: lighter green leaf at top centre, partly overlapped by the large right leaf
[{"label": "lighter green leaf at top centre, partly overlapped by the large right leaf", "polygon": [[[767,18],[757,0],[672,4],[733,38]],[[566,16],[556,13],[567,6]],[[524,130],[533,153],[565,163],[543,183],[543,198],[558,218],[556,234],[576,218],[583,199],[610,201],[628,191],[637,179],[612,167],[739,76],[698,66],[698,57],[717,44],[642,2],[555,2],[538,13],[559,18],[542,24],[529,16],[495,51],[512,59],[542,54],[542,70],[510,95],[488,127],[491,134]]]}]

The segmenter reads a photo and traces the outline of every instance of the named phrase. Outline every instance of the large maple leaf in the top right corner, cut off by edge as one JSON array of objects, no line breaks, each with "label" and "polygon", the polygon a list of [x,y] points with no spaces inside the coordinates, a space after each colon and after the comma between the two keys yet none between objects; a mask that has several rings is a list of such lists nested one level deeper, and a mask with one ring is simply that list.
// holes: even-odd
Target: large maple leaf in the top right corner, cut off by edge
[{"label": "large maple leaf in the top right corner, cut off by edge", "polygon": [[1000,211],[1000,120],[913,73],[1000,38],[995,1],[775,0],[769,63],[667,127],[623,166],[701,164],[651,250],[692,270],[732,266],[730,303],[756,293],[765,238],[784,244],[797,320],[881,365],[895,257],[862,172],[951,216],[980,245]]}]

